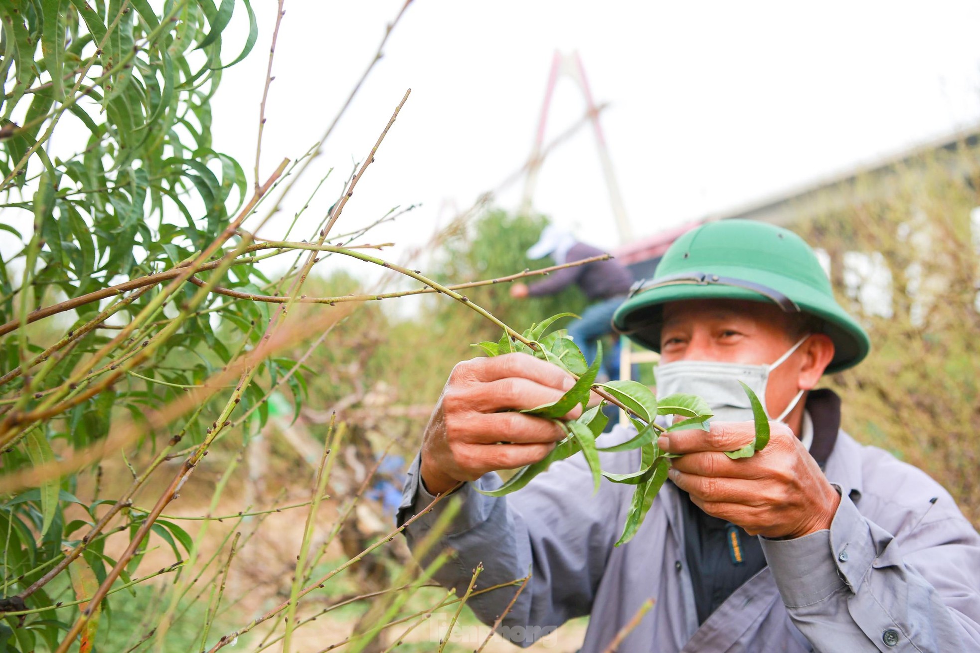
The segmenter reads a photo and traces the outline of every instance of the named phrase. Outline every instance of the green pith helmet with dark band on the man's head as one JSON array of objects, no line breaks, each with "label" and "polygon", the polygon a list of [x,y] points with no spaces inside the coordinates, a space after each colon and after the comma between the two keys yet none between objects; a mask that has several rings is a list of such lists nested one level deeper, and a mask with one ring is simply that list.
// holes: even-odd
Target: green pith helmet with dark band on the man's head
[{"label": "green pith helmet with dark band on the man's head", "polygon": [[787,313],[819,318],[835,347],[827,373],[857,365],[871,348],[864,329],[834,299],[813,250],[779,226],[722,220],[688,231],[670,245],[654,277],[633,287],[613,326],[660,351],[662,305],[684,299],[773,302]]}]

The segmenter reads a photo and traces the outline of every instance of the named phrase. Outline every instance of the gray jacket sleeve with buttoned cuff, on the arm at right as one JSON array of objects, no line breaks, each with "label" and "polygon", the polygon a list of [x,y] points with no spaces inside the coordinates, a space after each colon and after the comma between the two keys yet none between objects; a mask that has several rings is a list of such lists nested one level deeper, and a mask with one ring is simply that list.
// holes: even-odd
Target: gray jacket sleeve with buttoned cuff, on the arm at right
[{"label": "gray jacket sleeve with buttoned cuff, on the arm at right", "polygon": [[980,535],[958,511],[937,513],[926,509],[900,541],[843,496],[829,530],[760,538],[816,650],[980,651]]}]

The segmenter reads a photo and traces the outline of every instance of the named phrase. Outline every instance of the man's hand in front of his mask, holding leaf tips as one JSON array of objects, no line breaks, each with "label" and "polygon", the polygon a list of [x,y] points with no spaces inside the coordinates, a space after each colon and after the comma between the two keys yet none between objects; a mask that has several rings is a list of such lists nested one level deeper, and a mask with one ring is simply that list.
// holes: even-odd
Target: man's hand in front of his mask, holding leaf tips
[{"label": "man's hand in front of his mask, holding leaf tips", "polygon": [[715,422],[711,432],[668,433],[659,440],[661,448],[684,454],[672,461],[668,475],[699,508],[752,535],[802,537],[829,528],[840,494],[789,427],[769,427],[765,448],[738,460],[722,452],[752,442],[752,422]]}]

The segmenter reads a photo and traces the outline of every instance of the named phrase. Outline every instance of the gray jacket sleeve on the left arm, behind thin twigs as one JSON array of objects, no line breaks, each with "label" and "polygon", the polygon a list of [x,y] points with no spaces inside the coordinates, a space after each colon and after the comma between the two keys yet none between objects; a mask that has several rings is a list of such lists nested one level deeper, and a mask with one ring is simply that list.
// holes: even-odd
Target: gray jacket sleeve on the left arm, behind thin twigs
[{"label": "gray jacket sleeve on the left arm, behind thin twigs", "polygon": [[[622,454],[615,459],[604,458],[603,469],[625,468],[624,458]],[[433,498],[419,480],[418,465],[417,456],[398,513],[399,525]],[[619,512],[624,501],[628,504],[622,488],[632,486],[603,483],[593,495],[589,491],[592,479],[581,454],[553,464],[548,472],[508,496],[490,497],[473,489],[493,489],[501,482],[497,474],[487,474],[457,490],[454,496],[459,495],[463,501],[460,512],[442,536],[442,546],[433,547],[420,562],[425,565],[443,547],[452,548],[455,558],[434,578],[445,587],[455,588],[459,596],[480,563],[483,572],[478,587],[524,578],[530,571],[527,586],[501,628],[505,637],[527,646],[565,621],[591,611],[624,518]],[[411,548],[435,523],[442,504],[436,504],[431,513],[406,528]],[[518,586],[519,583],[473,596],[467,605],[483,623],[493,624]]]}]

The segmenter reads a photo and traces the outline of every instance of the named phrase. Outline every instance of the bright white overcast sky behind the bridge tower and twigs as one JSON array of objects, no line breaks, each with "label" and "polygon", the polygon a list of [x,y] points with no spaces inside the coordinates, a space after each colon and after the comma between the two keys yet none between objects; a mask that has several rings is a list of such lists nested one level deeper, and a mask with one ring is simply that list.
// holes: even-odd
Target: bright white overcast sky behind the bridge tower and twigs
[{"label": "bright white overcast sky behind the bridge tower and twigs", "polygon": [[[275,2],[256,5],[260,41],[225,73],[213,105],[215,149],[249,173]],[[319,137],[400,6],[287,0],[262,176]],[[236,11],[225,59],[244,19]],[[337,166],[339,182],[411,87],[338,228],[421,202],[371,238],[419,244],[523,163],[552,55],[577,49],[597,102],[611,103],[603,124],[634,232],[649,235],[973,124],[978,26],[980,3],[965,1],[416,0],[316,165]],[[565,78],[549,133],[583,110]],[[520,190],[499,203],[515,208]],[[336,192],[323,195],[311,221]],[[296,193],[291,211],[304,198]],[[589,129],[545,163],[535,206],[582,239],[618,244]]]}]

